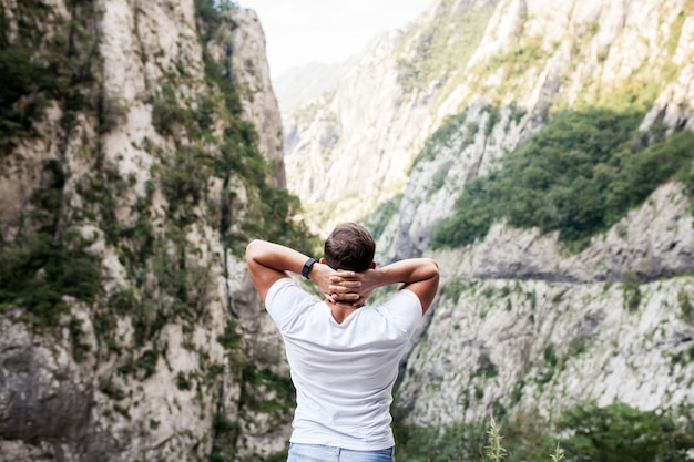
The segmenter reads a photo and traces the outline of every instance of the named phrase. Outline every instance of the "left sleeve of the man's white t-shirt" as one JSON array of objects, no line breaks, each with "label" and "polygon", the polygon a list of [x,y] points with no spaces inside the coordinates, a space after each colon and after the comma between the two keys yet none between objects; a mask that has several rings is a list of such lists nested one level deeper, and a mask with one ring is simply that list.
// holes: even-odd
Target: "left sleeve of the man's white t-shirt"
[{"label": "left sleeve of the man's white t-shirt", "polygon": [[272,285],[265,297],[265,308],[282,332],[289,329],[317,297],[302,290],[290,278],[282,278]]}]

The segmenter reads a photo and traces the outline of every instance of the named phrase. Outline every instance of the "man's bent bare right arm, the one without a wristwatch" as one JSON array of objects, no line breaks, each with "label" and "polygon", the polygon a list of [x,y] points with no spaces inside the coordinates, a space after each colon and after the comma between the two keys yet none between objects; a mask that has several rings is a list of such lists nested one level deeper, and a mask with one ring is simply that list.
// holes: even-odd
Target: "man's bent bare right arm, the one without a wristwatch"
[{"label": "man's bent bare right arm, the one without a wristwatch", "polygon": [[422,312],[427,312],[439,288],[439,265],[431,258],[410,258],[357,274],[361,280],[359,294],[368,297],[374,289],[402,284],[419,298]]}]

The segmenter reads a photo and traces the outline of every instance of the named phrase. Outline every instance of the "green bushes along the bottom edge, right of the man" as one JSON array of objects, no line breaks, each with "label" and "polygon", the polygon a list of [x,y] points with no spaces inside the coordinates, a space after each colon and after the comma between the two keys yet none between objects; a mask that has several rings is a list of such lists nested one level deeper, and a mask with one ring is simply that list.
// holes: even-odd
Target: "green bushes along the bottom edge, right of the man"
[{"label": "green bushes along the bottom edge, right of the man", "polygon": [[687,451],[694,449],[694,421],[686,412],[682,417],[589,402],[567,410],[554,425],[532,412],[500,424],[492,419],[484,431],[481,422],[405,424],[398,410],[394,430],[402,462],[675,462],[691,460]]}]

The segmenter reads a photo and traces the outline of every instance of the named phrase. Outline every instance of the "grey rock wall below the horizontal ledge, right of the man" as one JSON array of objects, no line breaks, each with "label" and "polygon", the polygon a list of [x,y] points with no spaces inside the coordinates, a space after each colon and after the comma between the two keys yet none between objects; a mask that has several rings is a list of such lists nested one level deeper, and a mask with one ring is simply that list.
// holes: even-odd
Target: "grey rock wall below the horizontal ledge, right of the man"
[{"label": "grey rock wall below the horizontal ledge, right of the man", "polygon": [[550,419],[588,400],[643,410],[692,404],[694,365],[676,359],[694,339],[682,305],[690,278],[637,288],[460,284],[457,299],[439,298],[427,340],[408,359],[397,403],[412,422],[486,421],[504,412]]}]

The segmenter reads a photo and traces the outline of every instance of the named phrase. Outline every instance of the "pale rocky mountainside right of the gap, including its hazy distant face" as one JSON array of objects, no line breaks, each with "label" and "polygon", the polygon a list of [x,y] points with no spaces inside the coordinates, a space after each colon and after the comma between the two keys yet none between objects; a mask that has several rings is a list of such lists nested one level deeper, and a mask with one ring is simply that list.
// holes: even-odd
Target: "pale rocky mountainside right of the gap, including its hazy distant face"
[{"label": "pale rocky mountainside right of the gap, including its hazy distant face", "polygon": [[[451,57],[465,29],[455,18],[479,37]],[[513,226],[502,209],[470,244],[433,250],[432,234],[465,206],[473,179],[493,177],[557,114],[641,114],[634,155],[686,136],[693,33],[690,1],[441,1],[367,50],[335,92],[284,115],[288,187],[317,228],[363,219],[381,261],[441,264],[441,291],[396,400],[410,422],[531,411],[552,421],[582,401],[692,405],[688,186],[664,181],[578,247],[561,228]]]}]

